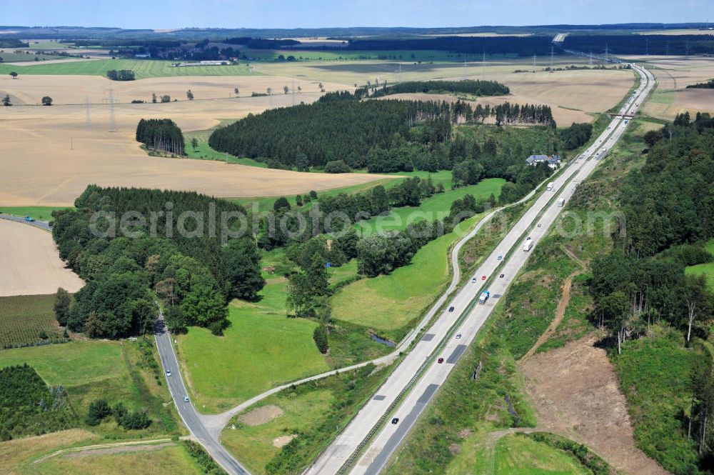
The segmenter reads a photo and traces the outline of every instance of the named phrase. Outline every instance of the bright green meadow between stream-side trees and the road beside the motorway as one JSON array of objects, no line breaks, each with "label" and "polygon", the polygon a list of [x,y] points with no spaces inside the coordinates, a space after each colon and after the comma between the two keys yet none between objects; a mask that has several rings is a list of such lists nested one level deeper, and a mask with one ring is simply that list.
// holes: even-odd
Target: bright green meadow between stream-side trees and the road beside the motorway
[{"label": "bright green meadow between stream-side trees and the road beside the motorway", "polygon": [[[463,229],[478,219],[481,216],[468,219]],[[398,341],[408,324],[418,319],[448,284],[451,272],[447,254],[455,239],[454,233],[434,239],[417,251],[408,266],[344,287],[333,296],[333,318],[382,331],[382,336]]]}]

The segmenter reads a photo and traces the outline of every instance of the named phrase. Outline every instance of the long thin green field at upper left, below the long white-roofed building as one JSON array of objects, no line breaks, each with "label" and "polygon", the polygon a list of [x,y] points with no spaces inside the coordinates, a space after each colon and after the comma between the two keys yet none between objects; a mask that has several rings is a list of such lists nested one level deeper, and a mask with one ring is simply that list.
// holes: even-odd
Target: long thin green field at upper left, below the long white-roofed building
[{"label": "long thin green field at upper left, below the long white-roofed building", "polygon": [[54,64],[34,64],[32,66],[0,64],[0,74],[10,74],[11,71],[15,71],[20,76],[23,74],[106,76],[106,71],[110,69],[131,69],[131,71],[134,71],[136,79],[169,76],[249,76],[254,74],[246,64],[174,68],[171,66],[172,62],[153,59],[86,59]]}]

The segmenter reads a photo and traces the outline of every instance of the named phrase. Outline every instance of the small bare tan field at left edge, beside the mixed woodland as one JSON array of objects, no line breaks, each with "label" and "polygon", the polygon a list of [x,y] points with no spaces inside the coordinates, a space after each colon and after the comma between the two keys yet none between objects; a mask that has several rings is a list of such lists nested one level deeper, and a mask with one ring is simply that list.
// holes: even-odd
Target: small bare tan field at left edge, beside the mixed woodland
[{"label": "small bare tan field at left edge, beside the mixed woodland", "polygon": [[52,236],[29,224],[0,219],[0,296],[76,292],[84,281],[66,269]]}]

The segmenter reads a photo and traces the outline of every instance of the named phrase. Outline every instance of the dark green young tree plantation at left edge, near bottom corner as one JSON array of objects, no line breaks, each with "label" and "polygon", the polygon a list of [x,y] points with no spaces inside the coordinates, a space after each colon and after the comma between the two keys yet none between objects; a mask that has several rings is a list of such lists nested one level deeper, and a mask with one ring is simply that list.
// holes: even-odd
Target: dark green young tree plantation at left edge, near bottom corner
[{"label": "dark green young tree plantation at left edge, near bottom corner", "polygon": [[0,440],[76,426],[62,386],[47,386],[31,366],[0,369]]}]

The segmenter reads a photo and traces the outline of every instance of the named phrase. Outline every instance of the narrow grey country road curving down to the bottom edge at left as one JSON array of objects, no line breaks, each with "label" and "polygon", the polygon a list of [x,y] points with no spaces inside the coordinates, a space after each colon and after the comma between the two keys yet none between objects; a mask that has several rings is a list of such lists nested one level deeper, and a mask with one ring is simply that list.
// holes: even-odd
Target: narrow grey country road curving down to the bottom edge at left
[{"label": "narrow grey country road curving down to the bottom edge at left", "polygon": [[[183,424],[203,448],[208,451],[208,454],[211,454],[213,459],[216,460],[228,474],[248,475],[250,472],[244,469],[243,466],[223,448],[218,442],[218,439],[206,430],[206,426],[204,426],[201,421],[201,416],[193,407],[191,401],[185,402],[183,400],[184,396],[188,396],[188,391],[186,391],[186,385],[183,384],[174,346],[171,344],[171,334],[169,334],[169,330],[166,329],[164,314],[161,312],[161,309],[159,309],[159,319],[157,319],[156,324],[154,324],[154,338],[156,339],[156,347],[159,349],[161,366],[164,368],[166,384],[169,386],[171,397],[174,399],[176,410],[178,411],[178,415],[181,416]],[[166,375],[166,370],[171,370],[171,376]]]}]

